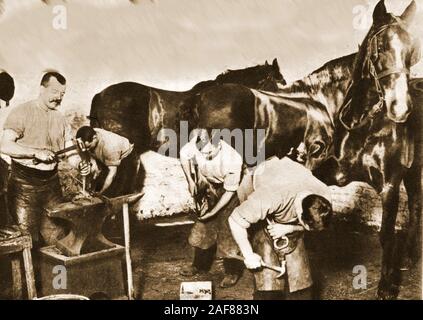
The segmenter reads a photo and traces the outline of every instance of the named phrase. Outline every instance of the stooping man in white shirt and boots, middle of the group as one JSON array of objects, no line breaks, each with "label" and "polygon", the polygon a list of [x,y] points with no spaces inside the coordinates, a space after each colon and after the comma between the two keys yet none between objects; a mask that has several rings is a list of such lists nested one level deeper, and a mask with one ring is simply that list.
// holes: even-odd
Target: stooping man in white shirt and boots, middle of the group
[{"label": "stooping man in white shirt and boots, middle of the group", "polygon": [[180,273],[192,276],[207,272],[217,249],[217,256],[223,257],[225,272],[220,287],[227,288],[236,284],[243,270],[242,262],[227,258],[239,250],[227,220],[239,205],[236,191],[243,161],[239,153],[220,137],[212,137],[211,141],[208,137],[207,130],[202,130],[180,152],[188,188],[200,215],[189,236],[189,243],[195,249],[194,260]]}]

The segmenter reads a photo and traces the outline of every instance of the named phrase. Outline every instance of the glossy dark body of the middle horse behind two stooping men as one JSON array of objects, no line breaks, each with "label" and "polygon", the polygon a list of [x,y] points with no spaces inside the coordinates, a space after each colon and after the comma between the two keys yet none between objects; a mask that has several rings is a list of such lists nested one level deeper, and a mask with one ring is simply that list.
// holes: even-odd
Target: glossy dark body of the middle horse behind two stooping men
[{"label": "glossy dark body of the middle horse behind two stooping men", "polygon": [[[194,113],[198,128],[241,130],[245,136],[242,148],[237,147],[235,134],[235,141],[232,135],[220,137],[235,147],[247,166],[257,166],[259,161],[272,156],[295,158],[293,150],[303,144],[302,160],[313,170],[328,157],[332,147],[334,133],[329,113],[324,105],[310,98],[224,84],[199,93]],[[254,132],[250,138],[247,130]]]}]

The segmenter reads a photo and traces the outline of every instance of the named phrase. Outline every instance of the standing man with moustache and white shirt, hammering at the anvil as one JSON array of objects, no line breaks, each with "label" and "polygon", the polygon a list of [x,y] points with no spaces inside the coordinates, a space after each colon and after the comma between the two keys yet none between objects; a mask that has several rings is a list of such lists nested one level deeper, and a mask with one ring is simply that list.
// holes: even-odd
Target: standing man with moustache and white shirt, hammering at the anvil
[{"label": "standing man with moustache and white shirt, hammering at the anvil", "polygon": [[62,198],[54,152],[72,143],[65,117],[58,111],[65,91],[61,74],[44,74],[38,98],[12,109],[3,126],[0,152],[12,159],[10,213],[36,245],[40,234],[47,245],[64,236],[63,226],[48,218],[44,207]]}]

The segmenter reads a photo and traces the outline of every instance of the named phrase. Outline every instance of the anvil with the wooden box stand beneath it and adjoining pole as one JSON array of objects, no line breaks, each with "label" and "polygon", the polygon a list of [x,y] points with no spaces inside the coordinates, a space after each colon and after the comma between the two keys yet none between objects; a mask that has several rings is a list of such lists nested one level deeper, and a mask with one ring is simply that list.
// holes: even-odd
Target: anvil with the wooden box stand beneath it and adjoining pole
[{"label": "anvil with the wooden box stand beneath it and adjoining pole", "polygon": [[[94,197],[45,208],[47,216],[68,221],[70,232],[56,246],[40,249],[42,295],[69,293],[92,297],[100,294],[110,299],[132,299],[129,235],[125,234],[125,247],[122,247],[107,240],[102,234],[102,227],[107,216],[123,208],[125,230],[129,230],[128,205],[141,197],[142,194],[130,194],[108,199],[107,203]],[[125,253],[127,295],[122,264]],[[65,286],[61,278],[63,271],[66,272]]]}]

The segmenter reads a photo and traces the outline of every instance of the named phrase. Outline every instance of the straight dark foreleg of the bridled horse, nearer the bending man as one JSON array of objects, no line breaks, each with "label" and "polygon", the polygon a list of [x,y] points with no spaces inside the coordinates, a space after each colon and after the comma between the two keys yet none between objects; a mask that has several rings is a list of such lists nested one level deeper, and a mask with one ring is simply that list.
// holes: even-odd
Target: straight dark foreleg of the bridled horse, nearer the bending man
[{"label": "straight dark foreleg of the bridled horse, nearer the bending man", "polygon": [[[401,171],[401,170],[399,170]],[[382,300],[396,299],[399,293],[399,241],[395,235],[395,222],[398,214],[399,185],[401,176],[384,183],[382,190],[382,226],[380,243],[382,245],[382,272],[379,281],[378,298]]]}]

